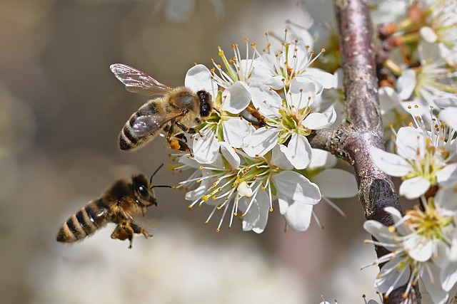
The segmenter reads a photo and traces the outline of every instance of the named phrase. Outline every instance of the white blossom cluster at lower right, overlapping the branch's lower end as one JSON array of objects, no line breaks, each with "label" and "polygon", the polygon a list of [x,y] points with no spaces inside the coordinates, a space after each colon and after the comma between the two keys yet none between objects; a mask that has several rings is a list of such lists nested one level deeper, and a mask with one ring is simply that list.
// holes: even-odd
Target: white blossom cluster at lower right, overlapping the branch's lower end
[{"label": "white blossom cluster at lower right, overlapping the branch's lower end", "polygon": [[404,216],[386,208],[393,226],[364,224],[376,239],[368,242],[391,251],[374,262],[386,263],[375,281],[386,295],[406,284],[406,297],[419,280],[433,303],[447,303],[457,292],[457,100],[446,103],[451,106],[438,116],[431,110],[431,123],[413,116],[414,124],[401,127],[395,153],[371,148],[380,169],[401,177],[399,193],[419,200]]}]

